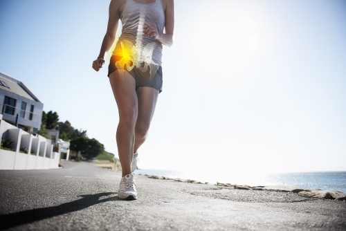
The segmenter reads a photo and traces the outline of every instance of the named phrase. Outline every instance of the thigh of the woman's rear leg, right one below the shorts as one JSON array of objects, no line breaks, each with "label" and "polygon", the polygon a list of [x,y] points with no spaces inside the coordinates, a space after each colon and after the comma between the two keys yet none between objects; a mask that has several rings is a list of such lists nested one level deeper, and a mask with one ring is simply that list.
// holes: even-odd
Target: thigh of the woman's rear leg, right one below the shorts
[{"label": "thigh of the woman's rear leg, right one below the shorts", "polygon": [[156,102],[158,98],[158,90],[152,87],[142,86],[138,87],[138,118],[136,122],[136,129],[149,129],[150,122],[154,115]]}]

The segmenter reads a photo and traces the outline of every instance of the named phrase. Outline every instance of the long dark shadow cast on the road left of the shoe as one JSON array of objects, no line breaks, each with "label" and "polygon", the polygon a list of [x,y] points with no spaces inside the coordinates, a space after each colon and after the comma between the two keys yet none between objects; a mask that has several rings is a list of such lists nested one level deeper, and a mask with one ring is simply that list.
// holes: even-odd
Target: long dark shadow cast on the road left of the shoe
[{"label": "long dark shadow cast on the road left of the shoe", "polygon": [[0,230],[5,230],[8,228],[15,227],[17,225],[23,225],[34,221],[51,218],[53,216],[59,216],[69,212],[83,210],[86,207],[90,207],[92,205],[104,203],[107,201],[122,201],[120,198],[118,198],[118,196],[112,196],[100,200],[100,197],[109,196],[111,194],[116,194],[116,192],[104,192],[99,194],[81,195],[82,198],[76,201],[63,203],[62,205],[43,207],[35,210],[26,210],[12,214],[0,215]]}]

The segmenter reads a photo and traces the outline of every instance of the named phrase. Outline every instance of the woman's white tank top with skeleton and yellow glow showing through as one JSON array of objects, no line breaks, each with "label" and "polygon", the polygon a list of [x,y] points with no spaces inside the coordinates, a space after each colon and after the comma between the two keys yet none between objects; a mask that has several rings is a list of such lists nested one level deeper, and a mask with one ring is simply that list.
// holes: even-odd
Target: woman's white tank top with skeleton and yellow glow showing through
[{"label": "woman's white tank top with skeleton and yellow glow showing through", "polygon": [[163,33],[165,12],[161,0],[147,4],[127,0],[120,20],[122,33],[113,55],[125,57],[124,61],[131,61],[134,66],[143,66],[143,62],[149,66],[155,65],[157,68],[161,66],[163,50],[161,42],[145,37],[143,33],[144,24],[155,26],[158,32]]}]

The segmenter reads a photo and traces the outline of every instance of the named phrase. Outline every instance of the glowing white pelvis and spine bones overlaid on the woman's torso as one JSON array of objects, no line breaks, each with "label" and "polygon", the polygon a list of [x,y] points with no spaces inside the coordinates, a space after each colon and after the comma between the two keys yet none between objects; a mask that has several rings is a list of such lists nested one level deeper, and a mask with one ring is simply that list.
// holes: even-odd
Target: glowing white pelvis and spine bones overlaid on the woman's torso
[{"label": "glowing white pelvis and spine bones overlaid on the woman's torso", "polygon": [[116,62],[116,67],[118,69],[127,69],[127,71],[131,71],[136,66],[140,69],[140,71],[145,73],[147,72],[147,68],[149,66],[150,80],[152,80],[152,77],[154,77],[156,71],[158,70],[158,64],[156,64],[152,59],[152,54],[154,52],[154,48],[156,47],[156,43],[151,42],[143,48],[144,24],[145,12],[140,12],[136,45],[126,39],[120,41],[122,59]]}]

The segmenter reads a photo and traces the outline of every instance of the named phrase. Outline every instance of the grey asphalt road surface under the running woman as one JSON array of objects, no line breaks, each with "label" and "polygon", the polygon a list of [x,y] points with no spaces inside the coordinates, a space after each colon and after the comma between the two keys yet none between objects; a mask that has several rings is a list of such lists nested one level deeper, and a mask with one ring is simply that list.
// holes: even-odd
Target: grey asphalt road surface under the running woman
[{"label": "grey asphalt road surface under the running woman", "polygon": [[345,201],[146,176],[123,201],[119,182],[91,163],[0,171],[0,230],[346,230]]}]

